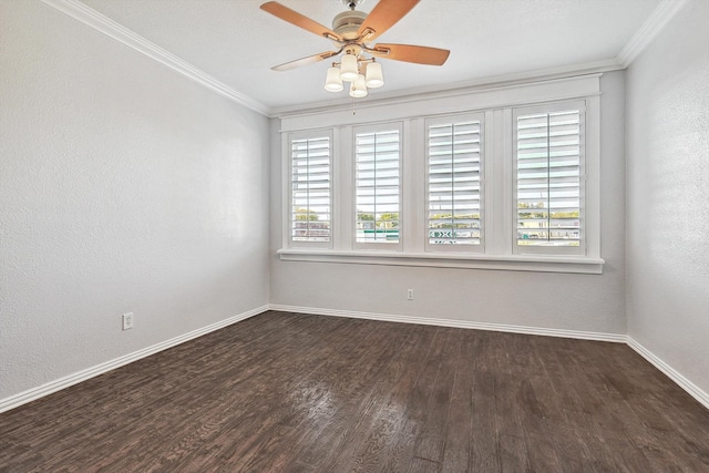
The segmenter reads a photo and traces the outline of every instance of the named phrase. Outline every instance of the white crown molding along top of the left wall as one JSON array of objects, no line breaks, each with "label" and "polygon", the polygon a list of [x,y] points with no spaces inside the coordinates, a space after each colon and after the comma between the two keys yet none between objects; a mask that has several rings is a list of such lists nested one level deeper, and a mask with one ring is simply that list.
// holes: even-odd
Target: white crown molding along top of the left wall
[{"label": "white crown molding along top of the left wall", "polygon": [[184,76],[192,79],[201,85],[218,93],[219,95],[238,103],[263,115],[269,115],[269,109],[260,102],[245,95],[228,85],[219,82],[206,72],[195,68],[187,61],[152,43],[140,34],[99,13],[79,0],[41,0],[43,3],[61,11],[74,20],[93,28],[113,40],[145,54],[146,56],[166,65]]}]

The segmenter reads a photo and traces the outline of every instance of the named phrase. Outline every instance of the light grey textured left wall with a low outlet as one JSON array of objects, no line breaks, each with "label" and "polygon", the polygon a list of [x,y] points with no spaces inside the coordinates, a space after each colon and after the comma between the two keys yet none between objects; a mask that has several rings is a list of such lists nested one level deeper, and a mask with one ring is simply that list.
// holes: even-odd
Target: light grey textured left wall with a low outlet
[{"label": "light grey textured left wall with a low outlet", "polygon": [[0,400],[268,304],[268,120],[39,1],[0,18]]}]

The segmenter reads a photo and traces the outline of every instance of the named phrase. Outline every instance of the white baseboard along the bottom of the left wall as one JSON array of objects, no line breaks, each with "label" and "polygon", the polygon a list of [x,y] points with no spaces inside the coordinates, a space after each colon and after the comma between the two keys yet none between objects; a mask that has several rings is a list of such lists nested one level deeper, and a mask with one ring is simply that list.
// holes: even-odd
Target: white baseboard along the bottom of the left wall
[{"label": "white baseboard along the bottom of the left wall", "polygon": [[186,341],[193,340],[197,337],[202,337],[203,335],[207,335],[215,330],[219,330],[224,327],[230,326],[232,323],[236,323],[238,321],[248,319],[249,317],[257,316],[261,312],[268,310],[268,306],[257,307],[255,309],[248,310],[246,312],[242,312],[237,316],[229,317],[228,319],[218,321],[216,323],[212,323],[209,326],[203,327],[197,330],[193,330],[188,333],[181,335],[178,337],[172,338],[169,340],[165,340],[163,342],[153,345],[152,347],[144,348],[142,350],[134,351],[132,353],[125,354],[123,357],[115,358],[113,360],[106,361],[101,364],[96,364],[94,367],[88,368],[85,370],[81,370],[73,374],[69,374],[66,377],[56,379],[54,381],[48,382],[45,384],[39,385],[37,388],[29,389],[27,391],[20,392],[19,394],[11,395],[9,398],[0,400],[0,412],[9,411],[10,409],[19,408],[22,404],[27,404],[28,402],[34,401],[37,399],[49,395],[53,392],[60,391],[62,389],[69,388],[71,385],[78,384],[88,379],[97,377],[99,374],[103,374],[107,371],[120,368],[124,364],[132,363],[133,361],[141,360],[145,357],[150,357],[151,354],[155,354],[158,351],[166,350],[168,348],[175,347],[177,345],[184,343]]}]

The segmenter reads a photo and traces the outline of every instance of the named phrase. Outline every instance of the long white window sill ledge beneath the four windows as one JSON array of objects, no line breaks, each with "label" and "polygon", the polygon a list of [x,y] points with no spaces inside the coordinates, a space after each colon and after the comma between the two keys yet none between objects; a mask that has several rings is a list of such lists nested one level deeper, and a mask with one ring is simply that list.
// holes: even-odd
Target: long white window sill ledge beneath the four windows
[{"label": "long white window sill ledge beneath the four windows", "polygon": [[281,261],[345,263],[356,265],[423,266],[507,271],[603,274],[602,258],[548,255],[473,255],[443,253],[352,251],[282,248]]}]

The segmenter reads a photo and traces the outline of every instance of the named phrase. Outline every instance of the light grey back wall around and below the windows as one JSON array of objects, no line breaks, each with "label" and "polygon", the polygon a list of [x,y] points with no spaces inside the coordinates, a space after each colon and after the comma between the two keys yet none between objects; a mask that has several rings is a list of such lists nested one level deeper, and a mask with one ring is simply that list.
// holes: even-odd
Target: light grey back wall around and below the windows
[{"label": "light grey back wall around and below the windows", "polygon": [[[270,302],[316,309],[625,333],[623,72],[602,78],[603,275],[281,261],[280,122],[271,123]],[[414,300],[407,300],[413,288]]]}]

